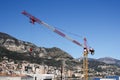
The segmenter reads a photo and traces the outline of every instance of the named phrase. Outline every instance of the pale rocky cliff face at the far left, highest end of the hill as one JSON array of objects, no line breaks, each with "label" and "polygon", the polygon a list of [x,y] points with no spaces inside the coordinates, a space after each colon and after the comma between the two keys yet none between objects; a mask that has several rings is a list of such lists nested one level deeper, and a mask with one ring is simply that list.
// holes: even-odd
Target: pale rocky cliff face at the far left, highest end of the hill
[{"label": "pale rocky cliff face at the far left, highest end of the hill", "polygon": [[30,52],[30,49],[32,48],[36,52],[36,55],[40,57],[45,55],[42,53],[45,51],[44,48],[39,48],[30,42],[18,40],[2,32],[0,32],[0,46],[5,47],[10,51],[16,51],[19,53]]}]

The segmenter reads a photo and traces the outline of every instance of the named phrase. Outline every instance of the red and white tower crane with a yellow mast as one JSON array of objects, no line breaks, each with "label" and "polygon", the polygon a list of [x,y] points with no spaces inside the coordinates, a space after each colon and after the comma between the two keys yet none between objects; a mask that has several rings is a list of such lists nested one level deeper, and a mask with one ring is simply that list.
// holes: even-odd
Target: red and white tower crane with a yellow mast
[{"label": "red and white tower crane with a yellow mast", "polygon": [[43,22],[42,20],[36,18],[35,16],[32,16],[26,11],[22,12],[23,15],[27,16],[30,19],[30,22],[34,24],[35,22],[38,24],[43,25],[44,27],[48,28],[49,30],[55,32],[56,34],[60,35],[61,37],[66,38],[67,40],[75,43],[76,45],[80,46],[83,48],[83,74],[84,74],[84,79],[88,80],[88,54],[91,53],[92,55],[94,54],[94,49],[90,48],[87,46],[87,39],[84,38],[84,44],[79,43],[75,39],[72,39],[71,37],[67,36],[63,32],[57,30],[55,27],[48,25],[47,23]]}]

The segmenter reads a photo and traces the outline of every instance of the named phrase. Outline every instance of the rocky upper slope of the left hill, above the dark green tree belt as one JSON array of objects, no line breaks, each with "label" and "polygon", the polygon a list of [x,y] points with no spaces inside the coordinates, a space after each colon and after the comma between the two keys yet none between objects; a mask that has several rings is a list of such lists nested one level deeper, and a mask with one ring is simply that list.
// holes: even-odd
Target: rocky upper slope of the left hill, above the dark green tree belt
[{"label": "rocky upper slope of the left hill, above the dark green tree belt", "polygon": [[[32,59],[35,58],[34,61],[39,61],[39,59],[42,59],[43,61],[61,61],[61,60],[67,60],[66,62],[72,64],[79,64],[77,60],[75,60],[71,55],[66,53],[65,51],[62,51],[59,48],[53,47],[53,48],[44,48],[44,47],[38,47],[33,43],[18,40],[6,33],[0,32],[0,47],[3,48],[4,51],[7,49],[7,53],[9,51],[15,53],[19,56],[24,57],[32,57]],[[2,54],[2,53],[0,53]],[[14,54],[15,55],[15,54]],[[17,59],[17,58],[16,58]],[[46,59],[46,60],[45,60]],[[47,62],[46,62],[47,63]]]}]

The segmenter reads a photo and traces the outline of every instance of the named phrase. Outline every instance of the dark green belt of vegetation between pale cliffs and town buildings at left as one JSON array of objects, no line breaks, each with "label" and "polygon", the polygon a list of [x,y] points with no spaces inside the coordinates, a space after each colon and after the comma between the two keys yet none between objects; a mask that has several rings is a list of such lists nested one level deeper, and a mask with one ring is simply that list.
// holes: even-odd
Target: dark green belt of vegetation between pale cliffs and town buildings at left
[{"label": "dark green belt of vegetation between pale cliffs and town buildings at left", "polygon": [[6,48],[0,47],[0,61],[2,61],[3,57],[7,57],[8,60],[12,59],[16,63],[19,61],[28,61],[30,63],[38,63],[38,64],[46,64],[48,66],[57,66],[60,67],[61,61],[56,61],[55,59],[46,59],[33,57],[29,53],[18,53],[15,51],[9,51]]}]

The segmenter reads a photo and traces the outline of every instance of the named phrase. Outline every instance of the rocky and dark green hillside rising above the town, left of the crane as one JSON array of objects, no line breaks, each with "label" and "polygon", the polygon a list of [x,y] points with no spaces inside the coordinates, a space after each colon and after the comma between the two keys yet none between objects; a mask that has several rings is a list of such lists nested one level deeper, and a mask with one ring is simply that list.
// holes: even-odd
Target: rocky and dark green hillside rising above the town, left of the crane
[{"label": "rocky and dark green hillside rising above the town, left of the crane", "polygon": [[[32,51],[30,49],[32,48]],[[13,60],[26,60],[32,63],[60,66],[62,60],[67,60],[66,64],[72,66],[79,65],[71,55],[59,48],[38,47],[33,43],[18,40],[6,33],[0,32],[0,55],[7,56]],[[71,64],[69,64],[71,61]]]}]

